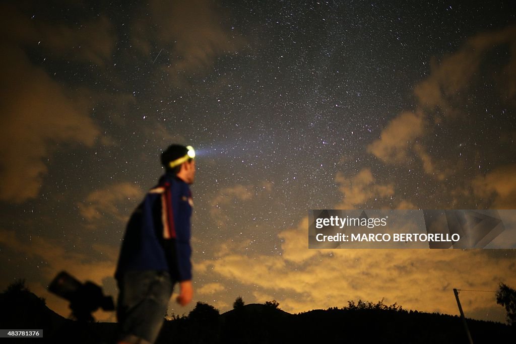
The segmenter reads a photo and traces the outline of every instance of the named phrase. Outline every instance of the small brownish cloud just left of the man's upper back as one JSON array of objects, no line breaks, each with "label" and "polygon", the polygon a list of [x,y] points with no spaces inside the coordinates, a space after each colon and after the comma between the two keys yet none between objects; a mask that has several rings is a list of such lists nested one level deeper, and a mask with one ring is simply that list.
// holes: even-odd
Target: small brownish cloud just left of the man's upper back
[{"label": "small brownish cloud just left of the man's upper back", "polygon": [[142,196],[143,192],[138,186],[132,183],[119,183],[91,192],[85,202],[78,203],[78,208],[80,215],[90,222],[106,216],[125,222],[128,218],[127,203],[133,205],[134,199],[140,199]]}]

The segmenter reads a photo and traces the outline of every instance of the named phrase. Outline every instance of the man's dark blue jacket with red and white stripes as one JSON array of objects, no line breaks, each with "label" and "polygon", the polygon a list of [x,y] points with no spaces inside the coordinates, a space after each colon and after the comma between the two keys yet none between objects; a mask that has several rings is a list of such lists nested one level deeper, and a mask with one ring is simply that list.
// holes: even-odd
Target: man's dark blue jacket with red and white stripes
[{"label": "man's dark blue jacket with red and white stripes", "polygon": [[190,187],[167,172],[127,223],[115,278],[126,271],[168,271],[174,282],[191,280]]}]

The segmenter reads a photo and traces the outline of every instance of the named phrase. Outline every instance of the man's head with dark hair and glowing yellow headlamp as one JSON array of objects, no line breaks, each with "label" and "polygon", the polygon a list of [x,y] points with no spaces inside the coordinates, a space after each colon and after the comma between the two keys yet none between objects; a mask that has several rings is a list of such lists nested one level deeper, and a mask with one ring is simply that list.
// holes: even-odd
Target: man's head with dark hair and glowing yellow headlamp
[{"label": "man's head with dark hair and glowing yellow headlamp", "polygon": [[185,183],[193,183],[195,177],[195,151],[191,146],[172,144],[161,155],[162,165],[167,172],[172,172]]}]

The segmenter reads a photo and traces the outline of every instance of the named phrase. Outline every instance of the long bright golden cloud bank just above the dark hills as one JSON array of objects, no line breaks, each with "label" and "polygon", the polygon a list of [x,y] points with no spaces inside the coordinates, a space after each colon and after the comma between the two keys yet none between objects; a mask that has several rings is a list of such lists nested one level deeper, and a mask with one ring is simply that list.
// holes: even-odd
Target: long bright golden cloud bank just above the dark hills
[{"label": "long bright golden cloud bank just above the dark hills", "polygon": [[[307,230],[298,231],[306,235]],[[285,238],[283,255],[233,253],[201,265],[224,279],[254,286],[257,301],[276,299],[287,312],[385,298],[406,309],[457,314],[454,287],[495,290],[501,280],[516,283],[511,258],[486,259],[476,250],[310,250],[306,238],[296,246],[291,236],[279,236]],[[472,299],[466,314],[495,305],[482,293]]]}]

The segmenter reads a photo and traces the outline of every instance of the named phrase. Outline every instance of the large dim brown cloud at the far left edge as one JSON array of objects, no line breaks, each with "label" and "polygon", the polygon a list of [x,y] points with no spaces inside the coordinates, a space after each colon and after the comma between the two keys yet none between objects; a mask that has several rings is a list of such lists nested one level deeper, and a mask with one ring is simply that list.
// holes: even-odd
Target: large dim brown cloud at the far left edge
[{"label": "large dim brown cloud at the far left edge", "polygon": [[100,135],[88,107],[71,96],[16,47],[0,44],[0,200],[38,195],[47,158],[61,142],[92,146]]}]

